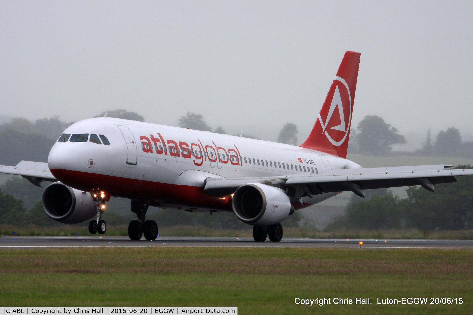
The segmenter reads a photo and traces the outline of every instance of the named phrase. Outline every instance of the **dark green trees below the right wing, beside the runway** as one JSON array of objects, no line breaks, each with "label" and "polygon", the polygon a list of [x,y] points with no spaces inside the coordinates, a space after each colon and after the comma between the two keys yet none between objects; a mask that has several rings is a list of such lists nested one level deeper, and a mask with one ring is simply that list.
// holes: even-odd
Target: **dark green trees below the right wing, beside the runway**
[{"label": "dark green trees below the right wing, beside the runway", "polygon": [[[472,168],[458,165],[457,169]],[[366,201],[352,198],[345,215],[336,218],[326,230],[400,229],[469,230],[473,228],[473,177],[459,176],[457,183],[438,184],[435,192],[423,187],[408,187],[407,198],[380,189],[381,196]],[[373,189],[375,190],[375,189]]]}]

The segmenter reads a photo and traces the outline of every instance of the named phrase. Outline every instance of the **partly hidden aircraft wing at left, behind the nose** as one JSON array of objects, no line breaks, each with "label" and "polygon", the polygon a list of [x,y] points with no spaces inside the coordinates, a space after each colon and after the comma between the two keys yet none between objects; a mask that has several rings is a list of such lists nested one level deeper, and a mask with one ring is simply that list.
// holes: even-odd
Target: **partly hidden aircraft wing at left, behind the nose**
[{"label": "partly hidden aircraft wing at left, behind the nose", "polygon": [[38,187],[43,180],[57,181],[49,171],[48,163],[44,162],[21,161],[17,166],[0,165],[0,173],[21,175]]}]

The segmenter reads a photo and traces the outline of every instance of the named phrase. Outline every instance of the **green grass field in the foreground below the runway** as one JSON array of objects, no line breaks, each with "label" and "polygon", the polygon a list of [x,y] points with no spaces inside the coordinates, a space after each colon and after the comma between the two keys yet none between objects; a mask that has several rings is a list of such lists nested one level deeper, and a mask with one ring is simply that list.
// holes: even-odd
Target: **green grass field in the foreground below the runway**
[{"label": "green grass field in the foreground below the runway", "polygon": [[[239,314],[471,314],[470,250],[80,248],[0,250],[2,306],[238,306]],[[377,305],[377,298],[463,298]],[[295,298],[350,298],[301,306]],[[357,305],[355,298],[373,304]],[[428,300],[430,302],[430,299]]]}]

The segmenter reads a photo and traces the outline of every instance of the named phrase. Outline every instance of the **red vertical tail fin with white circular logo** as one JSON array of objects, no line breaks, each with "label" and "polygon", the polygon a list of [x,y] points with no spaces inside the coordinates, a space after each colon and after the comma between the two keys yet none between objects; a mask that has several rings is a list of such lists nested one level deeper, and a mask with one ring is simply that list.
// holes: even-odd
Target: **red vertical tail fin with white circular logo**
[{"label": "red vertical tail fin with white circular logo", "polygon": [[347,51],[307,140],[300,146],[347,157],[361,54]]}]

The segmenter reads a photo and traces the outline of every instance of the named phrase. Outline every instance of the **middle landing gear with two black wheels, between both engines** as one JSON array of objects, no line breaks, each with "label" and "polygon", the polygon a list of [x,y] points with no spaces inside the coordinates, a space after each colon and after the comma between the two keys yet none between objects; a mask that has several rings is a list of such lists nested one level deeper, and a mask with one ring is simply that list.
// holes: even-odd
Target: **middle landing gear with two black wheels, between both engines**
[{"label": "middle landing gear with two black wheels, between both engines", "polygon": [[147,240],[155,240],[158,237],[158,224],[154,220],[146,220],[145,215],[149,204],[131,199],[131,212],[136,213],[138,220],[131,220],[128,225],[128,236],[132,240],[139,240],[145,236]]}]

